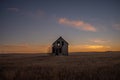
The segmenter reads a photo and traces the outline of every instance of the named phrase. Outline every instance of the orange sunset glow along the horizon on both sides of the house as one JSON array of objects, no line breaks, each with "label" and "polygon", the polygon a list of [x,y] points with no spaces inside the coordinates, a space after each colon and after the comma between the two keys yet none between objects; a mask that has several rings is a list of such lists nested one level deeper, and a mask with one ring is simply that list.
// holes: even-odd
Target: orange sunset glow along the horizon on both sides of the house
[{"label": "orange sunset glow along the horizon on both sides of the house", "polygon": [[[103,45],[70,45],[69,52],[91,52],[91,51],[120,51],[120,47]],[[49,53],[49,45],[1,45],[0,53]]]}]

